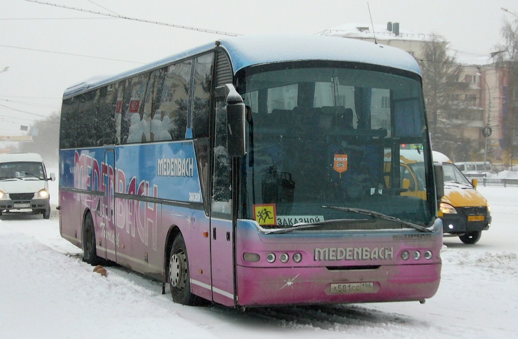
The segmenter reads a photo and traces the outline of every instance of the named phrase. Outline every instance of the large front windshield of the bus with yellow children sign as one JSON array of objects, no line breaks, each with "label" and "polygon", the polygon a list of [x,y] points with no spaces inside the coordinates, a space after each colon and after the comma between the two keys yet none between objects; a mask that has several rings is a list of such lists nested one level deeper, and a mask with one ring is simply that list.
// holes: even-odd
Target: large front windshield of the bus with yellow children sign
[{"label": "large front windshield of the bus with yellow children sign", "polygon": [[[328,220],[372,228],[357,222],[369,218],[357,210],[421,226],[433,222],[418,76],[324,61],[268,67],[244,69],[239,78],[249,123],[240,175],[242,217],[271,228]],[[424,164],[414,172],[420,176],[416,182],[428,183],[420,197],[405,194],[409,187],[399,170],[400,150],[409,145],[417,150],[413,162]],[[386,219],[376,224],[402,227]]]}]

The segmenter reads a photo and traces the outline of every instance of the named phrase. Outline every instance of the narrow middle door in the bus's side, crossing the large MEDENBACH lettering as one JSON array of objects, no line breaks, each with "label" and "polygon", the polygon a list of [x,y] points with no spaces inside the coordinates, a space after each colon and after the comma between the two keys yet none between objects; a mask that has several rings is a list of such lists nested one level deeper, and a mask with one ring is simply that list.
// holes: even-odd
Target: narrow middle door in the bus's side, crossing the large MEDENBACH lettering
[{"label": "narrow middle door in the bus's side, crossing the large MEDENBACH lettering", "polygon": [[117,261],[117,233],[114,224],[114,202],[113,202],[113,183],[115,182],[115,150],[107,149],[104,154],[104,163],[106,166],[106,175],[104,176],[104,218],[102,231],[103,234],[98,234],[97,237],[103,238],[104,246],[106,247],[106,258],[108,260]]}]

